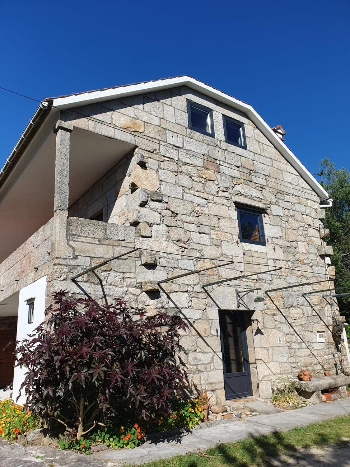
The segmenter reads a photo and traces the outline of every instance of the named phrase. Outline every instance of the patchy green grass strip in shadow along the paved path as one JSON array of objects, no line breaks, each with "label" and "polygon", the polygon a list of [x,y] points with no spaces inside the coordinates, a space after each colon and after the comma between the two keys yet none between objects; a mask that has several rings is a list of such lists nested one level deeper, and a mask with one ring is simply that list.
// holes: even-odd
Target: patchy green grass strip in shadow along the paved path
[{"label": "patchy green grass strip in shadow along the paved path", "polygon": [[252,467],[273,466],[270,459],[283,454],[293,454],[300,447],[326,446],[335,443],[344,446],[350,439],[350,416],[336,417],[324,422],[275,432],[257,438],[247,438],[235,443],[221,444],[200,454],[175,456],[156,460],[147,467]]}]

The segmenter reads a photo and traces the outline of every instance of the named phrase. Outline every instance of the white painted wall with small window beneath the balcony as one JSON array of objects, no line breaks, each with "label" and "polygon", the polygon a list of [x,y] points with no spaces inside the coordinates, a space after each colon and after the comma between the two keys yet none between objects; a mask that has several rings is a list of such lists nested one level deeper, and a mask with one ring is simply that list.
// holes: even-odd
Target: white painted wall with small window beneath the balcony
[{"label": "white painted wall with small window beneath the balcony", "polygon": [[[46,291],[46,276],[38,279],[37,281],[27,285],[20,290],[20,296],[18,301],[18,321],[17,321],[17,340],[25,339],[28,334],[34,332],[35,328],[44,321],[45,319],[45,291]],[[35,298],[34,301],[34,320],[32,324],[28,324],[28,305],[27,300]],[[17,396],[22,382],[24,381],[24,375],[27,372],[27,368],[14,368],[14,390],[13,399],[16,402]],[[17,403],[22,404],[26,402],[23,390]]]}]

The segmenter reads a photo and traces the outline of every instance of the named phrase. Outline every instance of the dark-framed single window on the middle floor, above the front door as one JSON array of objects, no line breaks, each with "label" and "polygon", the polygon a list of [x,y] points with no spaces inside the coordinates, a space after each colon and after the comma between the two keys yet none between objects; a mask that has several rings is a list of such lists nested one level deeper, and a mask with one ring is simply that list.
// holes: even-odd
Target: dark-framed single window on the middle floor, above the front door
[{"label": "dark-framed single window on the middle floor, above the front door", "polygon": [[241,242],[266,245],[262,212],[237,206],[237,217]]}]

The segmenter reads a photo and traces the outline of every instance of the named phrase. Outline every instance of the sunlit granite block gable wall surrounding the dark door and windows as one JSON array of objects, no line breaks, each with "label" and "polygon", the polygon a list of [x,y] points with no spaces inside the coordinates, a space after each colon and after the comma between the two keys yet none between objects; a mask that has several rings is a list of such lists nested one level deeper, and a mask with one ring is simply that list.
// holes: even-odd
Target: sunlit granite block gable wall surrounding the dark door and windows
[{"label": "sunlit granite block gable wall surrounding the dark door and windows", "polygon": [[[215,138],[188,128],[187,99],[213,111]],[[71,257],[53,260],[50,291],[81,293],[70,277],[134,247],[137,252],[99,270],[108,300],[180,313],[189,324],[182,336],[194,389],[225,399],[219,338],[220,310],[238,309],[236,288],[265,290],[324,280],[334,275],[325,257],[324,210],[319,198],[247,117],[186,87],[79,107],[90,119],[64,113],[73,127],[135,144],[128,154],[70,206],[67,241]],[[244,123],[247,149],[224,142],[222,115]],[[99,120],[99,121],[98,121]],[[74,128],[73,128],[74,131]],[[264,211],[266,246],[242,243],[237,203]],[[89,220],[104,210],[104,220]],[[224,263],[230,265],[223,266]],[[271,271],[271,269],[281,268]],[[208,269],[203,272],[201,269]],[[157,282],[194,271],[157,286]],[[266,272],[269,271],[269,272]],[[221,285],[203,285],[256,273]],[[98,279],[79,279],[102,299]],[[332,370],[340,355],[332,340],[336,307],[321,295],[302,293],[324,283],[269,292],[255,303],[245,296],[246,333],[253,393],[271,395],[278,375],[308,367]],[[317,332],[325,342],[317,342]],[[345,361],[344,361],[344,364]]]}]

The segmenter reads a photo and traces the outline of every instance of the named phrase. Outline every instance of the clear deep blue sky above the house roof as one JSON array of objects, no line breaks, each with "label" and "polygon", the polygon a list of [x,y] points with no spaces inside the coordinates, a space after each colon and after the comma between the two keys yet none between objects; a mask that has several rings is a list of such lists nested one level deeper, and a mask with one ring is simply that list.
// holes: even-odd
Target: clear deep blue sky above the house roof
[{"label": "clear deep blue sky above the house roof", "polygon": [[[35,99],[188,74],[251,104],[315,173],[349,164],[350,2],[3,1],[0,86]],[[0,166],[37,104],[0,90]]]}]

